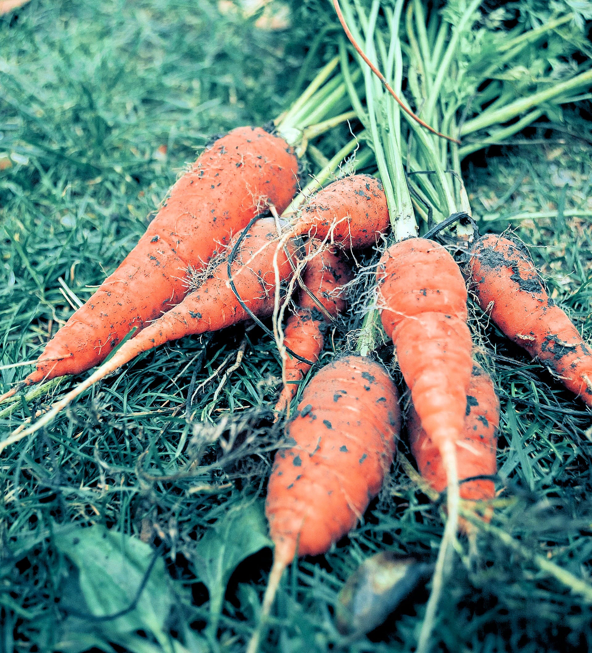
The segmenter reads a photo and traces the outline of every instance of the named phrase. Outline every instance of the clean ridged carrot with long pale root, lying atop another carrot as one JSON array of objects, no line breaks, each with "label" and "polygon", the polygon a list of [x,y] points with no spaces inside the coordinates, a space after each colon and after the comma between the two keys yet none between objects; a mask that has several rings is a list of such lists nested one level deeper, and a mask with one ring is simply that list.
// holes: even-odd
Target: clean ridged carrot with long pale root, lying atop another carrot
[{"label": "clean ridged carrot with long pale root, lying atop another carrot", "polygon": [[382,326],[395,345],[423,429],[446,470],[448,520],[417,647],[425,651],[459,525],[455,443],[465,426],[472,370],[467,288],[452,256],[425,238],[408,238],[389,247],[376,275]]}]

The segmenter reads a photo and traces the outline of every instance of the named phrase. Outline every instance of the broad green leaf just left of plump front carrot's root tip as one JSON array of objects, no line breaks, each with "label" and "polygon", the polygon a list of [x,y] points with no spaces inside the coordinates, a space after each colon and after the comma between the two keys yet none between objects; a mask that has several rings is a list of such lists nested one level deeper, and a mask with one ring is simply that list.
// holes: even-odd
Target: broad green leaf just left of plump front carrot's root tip
[{"label": "broad green leaf just left of plump front carrot's root tip", "polygon": [[197,543],[193,554],[195,572],[210,594],[210,634],[218,629],[218,619],[228,581],[245,558],[272,547],[262,502],[240,504],[220,518]]}]

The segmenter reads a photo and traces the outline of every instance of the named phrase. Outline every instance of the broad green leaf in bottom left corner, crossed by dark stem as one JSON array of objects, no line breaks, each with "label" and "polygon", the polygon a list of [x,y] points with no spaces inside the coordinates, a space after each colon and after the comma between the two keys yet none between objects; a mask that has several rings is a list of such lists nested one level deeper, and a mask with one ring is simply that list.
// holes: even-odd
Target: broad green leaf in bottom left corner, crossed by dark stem
[{"label": "broad green leaf in bottom left corner, crossed by dark stem", "polygon": [[[70,608],[73,616],[88,610],[95,617],[103,617],[129,609],[154,558],[149,545],[104,526],[59,528],[54,543],[78,569],[78,585],[86,606],[80,602],[72,605],[70,601],[76,598],[76,592],[69,592],[64,596],[63,607]],[[165,564],[158,558],[134,609],[110,620],[90,619],[89,626],[98,625],[103,632],[131,633],[142,629],[152,632],[160,641],[165,637],[163,626],[172,603]]]}]

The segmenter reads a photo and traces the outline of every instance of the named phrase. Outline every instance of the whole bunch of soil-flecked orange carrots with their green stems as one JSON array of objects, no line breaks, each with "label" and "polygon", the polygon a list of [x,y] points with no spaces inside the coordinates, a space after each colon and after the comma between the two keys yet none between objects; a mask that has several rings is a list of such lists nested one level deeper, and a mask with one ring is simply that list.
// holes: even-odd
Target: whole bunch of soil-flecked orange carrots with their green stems
[{"label": "whole bunch of soil-flecked orange carrots with their green stems", "polygon": [[[0,442],[3,451],[48,426],[82,392],[140,353],[247,320],[272,333],[282,361],[276,413],[289,418],[290,447],[276,453],[269,479],[274,564],[250,653],[264,637],[286,566],[295,556],[329,550],[380,491],[402,424],[419,473],[433,490],[447,492],[446,528],[418,642],[418,650],[428,650],[446,556],[459,524],[470,532],[459,521],[461,502],[489,520],[495,498],[500,406],[493,381],[474,359],[469,293],[508,338],[592,407],[592,348],[547,295],[525,247],[494,234],[480,238],[457,222],[453,251],[465,254],[458,263],[436,240],[438,228],[418,237],[414,206],[426,221],[429,214],[430,228],[448,214],[470,215],[470,206],[462,183],[455,187],[447,176],[459,169],[462,130],[455,129],[455,112],[446,119],[438,114],[440,73],[424,78],[435,93],[426,110],[432,123],[417,116],[401,94],[403,2],[385,10],[389,48],[375,33],[378,1],[368,15],[359,4],[358,15],[348,5],[342,10],[337,0],[335,9],[354,49],[342,42],[340,57],[321,70],[275,129],[241,127],[206,148],[173,186],[139,244],[46,345],[33,372],[0,398],[96,367]],[[467,29],[469,14],[458,33]],[[421,3],[408,5],[408,22],[422,37]],[[429,29],[436,33],[436,27]],[[438,57],[445,63],[442,29]],[[423,45],[419,50],[425,54]],[[414,54],[416,65],[421,54]],[[380,124],[379,100],[387,107],[388,125]],[[363,131],[332,161],[323,161],[320,173],[297,193],[299,155],[308,141],[356,116]],[[415,136],[413,146],[403,138],[403,119]],[[371,148],[360,151],[355,166],[374,164],[378,176],[348,174],[325,185],[363,140]],[[474,144],[465,146],[464,153],[472,149]],[[410,168],[426,167],[433,179],[408,182]],[[452,224],[444,221],[440,229]],[[358,351],[335,357],[310,377],[331,324],[346,311],[355,251],[372,247],[380,256],[375,303]],[[189,269],[202,273],[193,274],[192,284]],[[271,329],[263,323],[270,317]],[[372,358],[378,321],[393,343],[402,387]]]}]

